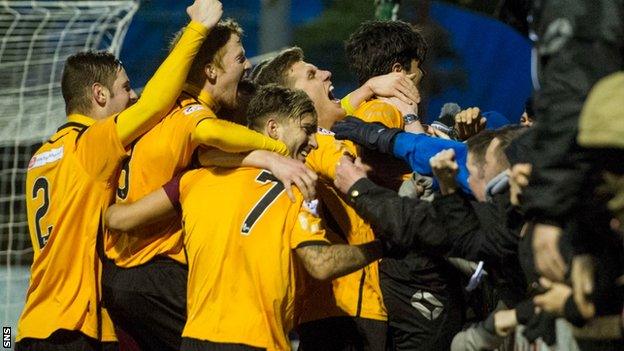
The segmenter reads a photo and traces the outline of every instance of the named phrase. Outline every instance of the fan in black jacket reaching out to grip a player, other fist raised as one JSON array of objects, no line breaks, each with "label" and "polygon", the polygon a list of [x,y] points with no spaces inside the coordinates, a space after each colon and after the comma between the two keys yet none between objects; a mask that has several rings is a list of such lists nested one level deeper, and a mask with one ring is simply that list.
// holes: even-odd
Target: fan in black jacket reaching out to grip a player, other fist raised
[{"label": "fan in black jacket reaching out to grip a player, other fist raised", "polygon": [[509,201],[503,150],[521,133],[507,128],[482,132],[468,141],[468,183],[475,196],[487,202],[471,201],[458,191],[454,152],[446,150],[431,159],[442,196],[433,204],[401,198],[365,177],[359,160],[347,158],[336,170],[336,186],[351,198],[354,207],[380,233],[402,232],[405,245],[473,261],[484,261],[501,288],[502,299],[514,305],[524,296],[526,283],[518,262],[521,214]]}]

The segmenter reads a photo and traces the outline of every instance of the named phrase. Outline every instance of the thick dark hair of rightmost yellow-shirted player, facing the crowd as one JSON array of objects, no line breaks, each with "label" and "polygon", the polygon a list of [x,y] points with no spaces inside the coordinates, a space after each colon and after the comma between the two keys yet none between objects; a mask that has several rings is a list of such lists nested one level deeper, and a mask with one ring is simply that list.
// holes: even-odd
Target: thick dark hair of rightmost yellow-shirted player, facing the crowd
[{"label": "thick dark hair of rightmost yellow-shirted player, facing the crowd", "polygon": [[392,65],[409,69],[413,59],[425,60],[425,39],[410,24],[403,21],[368,21],[345,43],[349,67],[360,84],[368,79],[387,74]]}]

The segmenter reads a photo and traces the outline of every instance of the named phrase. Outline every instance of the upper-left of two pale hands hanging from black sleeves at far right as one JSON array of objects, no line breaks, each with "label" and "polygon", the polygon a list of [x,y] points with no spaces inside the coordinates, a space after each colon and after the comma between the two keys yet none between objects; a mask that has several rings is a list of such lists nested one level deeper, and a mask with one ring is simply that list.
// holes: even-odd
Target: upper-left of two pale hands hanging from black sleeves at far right
[{"label": "upper-left of two pale hands hanging from black sleeves at far right", "polygon": [[535,268],[542,276],[555,282],[563,281],[568,269],[559,252],[561,234],[560,227],[550,224],[537,223],[533,229]]}]

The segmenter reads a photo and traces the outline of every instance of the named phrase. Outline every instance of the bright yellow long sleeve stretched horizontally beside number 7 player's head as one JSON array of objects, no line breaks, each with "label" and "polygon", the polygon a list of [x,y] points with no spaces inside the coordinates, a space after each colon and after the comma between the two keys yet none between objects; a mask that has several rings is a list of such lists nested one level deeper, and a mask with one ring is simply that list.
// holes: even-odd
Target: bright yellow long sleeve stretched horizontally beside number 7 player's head
[{"label": "bright yellow long sleeve stretched horizontally beside number 7 player's head", "polygon": [[288,155],[288,148],[283,142],[217,118],[201,120],[193,131],[192,139],[195,144],[212,146],[226,152],[267,150]]}]

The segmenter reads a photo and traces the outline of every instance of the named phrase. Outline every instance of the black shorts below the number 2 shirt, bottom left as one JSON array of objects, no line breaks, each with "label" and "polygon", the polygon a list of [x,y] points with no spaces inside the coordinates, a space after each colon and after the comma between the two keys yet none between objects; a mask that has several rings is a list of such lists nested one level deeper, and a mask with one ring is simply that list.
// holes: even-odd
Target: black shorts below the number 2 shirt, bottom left
[{"label": "black shorts below the number 2 shirt, bottom left", "polygon": [[98,342],[76,330],[57,330],[45,339],[24,338],[15,351],[117,351],[116,342]]}]

